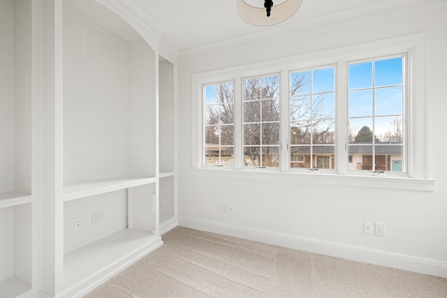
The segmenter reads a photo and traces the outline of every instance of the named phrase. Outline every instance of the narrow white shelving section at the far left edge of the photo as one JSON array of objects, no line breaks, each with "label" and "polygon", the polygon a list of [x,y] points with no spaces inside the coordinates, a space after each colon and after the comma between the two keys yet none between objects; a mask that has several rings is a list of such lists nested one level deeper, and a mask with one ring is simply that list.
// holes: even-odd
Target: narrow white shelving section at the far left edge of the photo
[{"label": "narrow white shelving section at the far left edge of the photo", "polygon": [[30,0],[0,1],[0,296],[33,291]]}]

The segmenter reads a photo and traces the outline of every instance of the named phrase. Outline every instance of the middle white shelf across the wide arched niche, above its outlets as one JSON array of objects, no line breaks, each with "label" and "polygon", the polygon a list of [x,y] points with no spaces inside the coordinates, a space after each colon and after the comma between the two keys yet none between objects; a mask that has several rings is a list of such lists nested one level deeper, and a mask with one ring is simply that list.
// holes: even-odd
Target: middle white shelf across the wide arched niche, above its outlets
[{"label": "middle white shelf across the wide arched niche, above its outlets", "polygon": [[124,176],[110,179],[101,179],[64,186],[64,201],[76,200],[89,197],[91,195],[100,195],[101,193],[110,193],[135,186],[155,183],[155,177],[134,177]]}]

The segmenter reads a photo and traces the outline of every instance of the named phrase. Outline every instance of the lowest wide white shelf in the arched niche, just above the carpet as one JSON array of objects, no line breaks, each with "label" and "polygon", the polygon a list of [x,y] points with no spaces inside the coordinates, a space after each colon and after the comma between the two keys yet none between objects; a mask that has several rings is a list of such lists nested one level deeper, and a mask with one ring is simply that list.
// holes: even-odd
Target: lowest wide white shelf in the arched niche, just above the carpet
[{"label": "lowest wide white shelf in the arched niche, just above the carpet", "polygon": [[125,229],[68,253],[64,256],[64,292],[102,273],[110,274],[129,258],[140,258],[161,244],[161,237],[150,232]]}]

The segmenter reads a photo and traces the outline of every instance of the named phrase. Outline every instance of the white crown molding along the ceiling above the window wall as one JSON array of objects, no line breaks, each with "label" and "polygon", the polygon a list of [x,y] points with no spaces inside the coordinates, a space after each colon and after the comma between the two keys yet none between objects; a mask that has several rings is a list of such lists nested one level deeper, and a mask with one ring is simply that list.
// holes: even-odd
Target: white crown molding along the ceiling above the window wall
[{"label": "white crown molding along the ceiling above the window wall", "polygon": [[[412,0],[412,1],[375,1],[365,6],[359,6],[337,13],[319,15],[308,20],[279,24],[274,27],[263,28],[256,33],[249,33],[235,38],[219,40],[215,43],[208,43],[198,47],[191,47],[179,50],[179,63],[212,57],[218,54],[260,47],[270,43],[280,43],[291,38],[306,36],[309,34],[343,29],[359,24],[386,20],[392,17],[399,17],[415,12],[430,10],[447,6],[445,0]],[[299,13],[299,12],[298,12]],[[346,22],[350,20],[351,22]],[[328,26],[330,24],[330,26]]]}]

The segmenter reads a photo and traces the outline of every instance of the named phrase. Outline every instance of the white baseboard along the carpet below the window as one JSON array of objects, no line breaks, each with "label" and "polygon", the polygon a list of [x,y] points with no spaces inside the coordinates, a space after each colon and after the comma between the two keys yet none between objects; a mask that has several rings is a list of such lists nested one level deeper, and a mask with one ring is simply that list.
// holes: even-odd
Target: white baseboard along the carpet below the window
[{"label": "white baseboard along the carpet below the window", "polygon": [[399,255],[396,253],[388,253],[386,251],[375,251],[369,248],[296,237],[288,234],[279,234],[182,216],[179,216],[178,224],[185,228],[225,234],[267,244],[294,248],[300,251],[331,255],[346,260],[354,260],[447,278],[447,262]]}]

